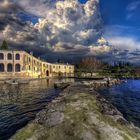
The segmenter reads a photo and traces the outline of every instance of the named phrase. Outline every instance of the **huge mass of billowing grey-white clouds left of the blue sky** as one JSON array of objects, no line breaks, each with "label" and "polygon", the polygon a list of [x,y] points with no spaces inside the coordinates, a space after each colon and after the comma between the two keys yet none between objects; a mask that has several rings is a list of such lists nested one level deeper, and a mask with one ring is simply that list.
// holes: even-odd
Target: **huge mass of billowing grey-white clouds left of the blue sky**
[{"label": "huge mass of billowing grey-white clouds left of the blue sky", "polygon": [[[32,18],[27,22],[24,15],[39,20],[33,25]],[[88,0],[86,4],[78,0],[3,0],[0,30],[1,39],[6,38],[11,46],[46,50],[44,55],[49,56],[51,52],[83,57],[109,50],[106,41],[105,44],[99,41],[102,36],[99,0]]]}]

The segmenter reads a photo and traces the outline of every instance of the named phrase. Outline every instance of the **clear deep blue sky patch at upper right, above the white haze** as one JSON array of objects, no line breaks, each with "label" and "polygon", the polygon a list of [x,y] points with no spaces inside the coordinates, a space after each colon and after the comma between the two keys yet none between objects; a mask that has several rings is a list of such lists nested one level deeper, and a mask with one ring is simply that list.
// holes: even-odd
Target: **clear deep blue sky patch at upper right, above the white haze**
[{"label": "clear deep blue sky patch at upper right, above the white haze", "polygon": [[140,0],[101,0],[100,9],[104,25],[112,29],[112,36],[118,32],[120,36],[133,35],[140,40]]}]

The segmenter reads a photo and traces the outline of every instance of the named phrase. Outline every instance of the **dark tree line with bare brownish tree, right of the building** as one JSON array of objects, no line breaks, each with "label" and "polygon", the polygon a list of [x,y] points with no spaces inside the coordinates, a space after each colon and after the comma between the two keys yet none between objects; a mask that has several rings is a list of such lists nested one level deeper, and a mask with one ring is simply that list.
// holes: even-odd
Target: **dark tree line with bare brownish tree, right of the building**
[{"label": "dark tree line with bare brownish tree, right of the building", "polygon": [[83,73],[98,74],[98,76],[111,76],[117,78],[140,77],[140,66],[129,62],[116,61],[113,64],[105,63],[95,57],[83,58],[76,65],[76,73],[80,77]]}]

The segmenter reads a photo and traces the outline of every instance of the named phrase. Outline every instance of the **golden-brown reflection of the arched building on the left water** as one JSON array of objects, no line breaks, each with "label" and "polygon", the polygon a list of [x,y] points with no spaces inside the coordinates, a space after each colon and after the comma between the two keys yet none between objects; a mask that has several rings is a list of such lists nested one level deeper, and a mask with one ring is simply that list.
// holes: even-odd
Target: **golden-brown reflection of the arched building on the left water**
[{"label": "golden-brown reflection of the arched building on the left water", "polygon": [[29,84],[1,84],[0,85],[0,106],[10,103],[21,103],[25,101],[25,98],[30,100],[29,97],[38,94],[36,92],[45,92],[52,84],[52,80],[40,80],[32,81]]}]

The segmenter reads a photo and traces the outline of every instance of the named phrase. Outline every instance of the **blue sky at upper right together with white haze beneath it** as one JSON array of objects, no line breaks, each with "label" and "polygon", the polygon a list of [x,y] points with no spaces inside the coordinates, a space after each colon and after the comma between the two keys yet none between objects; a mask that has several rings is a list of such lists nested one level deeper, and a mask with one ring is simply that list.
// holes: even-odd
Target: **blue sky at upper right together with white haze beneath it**
[{"label": "blue sky at upper right together with white haze beneath it", "polygon": [[121,47],[140,49],[140,0],[100,0],[105,37]]}]

